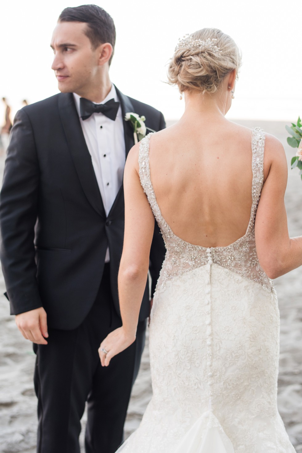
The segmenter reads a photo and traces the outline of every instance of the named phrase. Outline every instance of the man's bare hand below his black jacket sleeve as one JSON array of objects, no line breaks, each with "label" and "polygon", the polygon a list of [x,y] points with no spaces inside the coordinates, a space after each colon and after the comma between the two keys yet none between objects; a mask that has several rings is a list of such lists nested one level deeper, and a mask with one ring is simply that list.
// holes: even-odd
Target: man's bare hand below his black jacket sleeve
[{"label": "man's bare hand below his black jacket sleeve", "polygon": [[[26,340],[47,344],[47,315],[43,307],[16,315],[16,324]],[[45,338],[44,338],[45,337]]]}]

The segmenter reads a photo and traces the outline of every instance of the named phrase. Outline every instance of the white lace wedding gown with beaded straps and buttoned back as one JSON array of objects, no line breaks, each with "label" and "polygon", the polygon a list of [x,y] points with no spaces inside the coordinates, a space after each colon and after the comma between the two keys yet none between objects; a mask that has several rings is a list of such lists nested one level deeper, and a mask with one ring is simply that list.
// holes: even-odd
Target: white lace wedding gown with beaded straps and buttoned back
[{"label": "white lace wedding gown with beaded straps and buttoned back", "polygon": [[153,396],[118,453],[293,453],[277,409],[278,300],[255,249],[263,130],[252,131],[252,208],[243,237],[205,248],[175,236],[139,166],[166,245],[151,311]]}]

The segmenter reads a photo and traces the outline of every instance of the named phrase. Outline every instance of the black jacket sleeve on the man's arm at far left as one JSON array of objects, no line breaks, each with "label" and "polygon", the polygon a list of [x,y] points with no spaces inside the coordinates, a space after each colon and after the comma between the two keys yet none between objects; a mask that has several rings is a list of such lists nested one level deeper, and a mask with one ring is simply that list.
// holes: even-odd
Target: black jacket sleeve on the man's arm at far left
[{"label": "black jacket sleeve on the man's arm at far left", "polygon": [[17,112],[11,130],[0,192],[0,259],[11,314],[42,306],[34,248],[38,184],[33,129],[22,109]]}]

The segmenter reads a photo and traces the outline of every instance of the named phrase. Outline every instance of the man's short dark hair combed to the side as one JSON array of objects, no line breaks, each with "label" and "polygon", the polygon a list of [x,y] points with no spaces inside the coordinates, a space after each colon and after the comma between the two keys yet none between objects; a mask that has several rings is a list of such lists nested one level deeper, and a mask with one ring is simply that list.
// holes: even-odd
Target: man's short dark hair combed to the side
[{"label": "man's short dark hair combed to the side", "polygon": [[[58,22],[85,22],[85,35],[90,39],[93,48],[99,44],[110,43],[115,46],[115,26],[112,17],[103,8],[97,5],[81,5],[65,8],[59,16]],[[109,60],[111,63],[113,53]]]}]

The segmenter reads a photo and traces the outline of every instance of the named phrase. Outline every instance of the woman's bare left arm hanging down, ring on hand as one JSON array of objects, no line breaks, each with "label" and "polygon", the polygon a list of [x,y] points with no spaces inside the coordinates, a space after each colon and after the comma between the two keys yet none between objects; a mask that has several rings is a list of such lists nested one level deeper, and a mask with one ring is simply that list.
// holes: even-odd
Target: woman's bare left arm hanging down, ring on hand
[{"label": "woman's bare left arm hanging down, ring on hand", "polygon": [[[129,152],[124,170],[125,233],[118,271],[118,297],[123,326],[110,333],[99,347],[103,366],[136,338],[139,311],[146,287],[154,216],[138,174],[138,149]],[[108,352],[105,355],[101,350]]]}]

